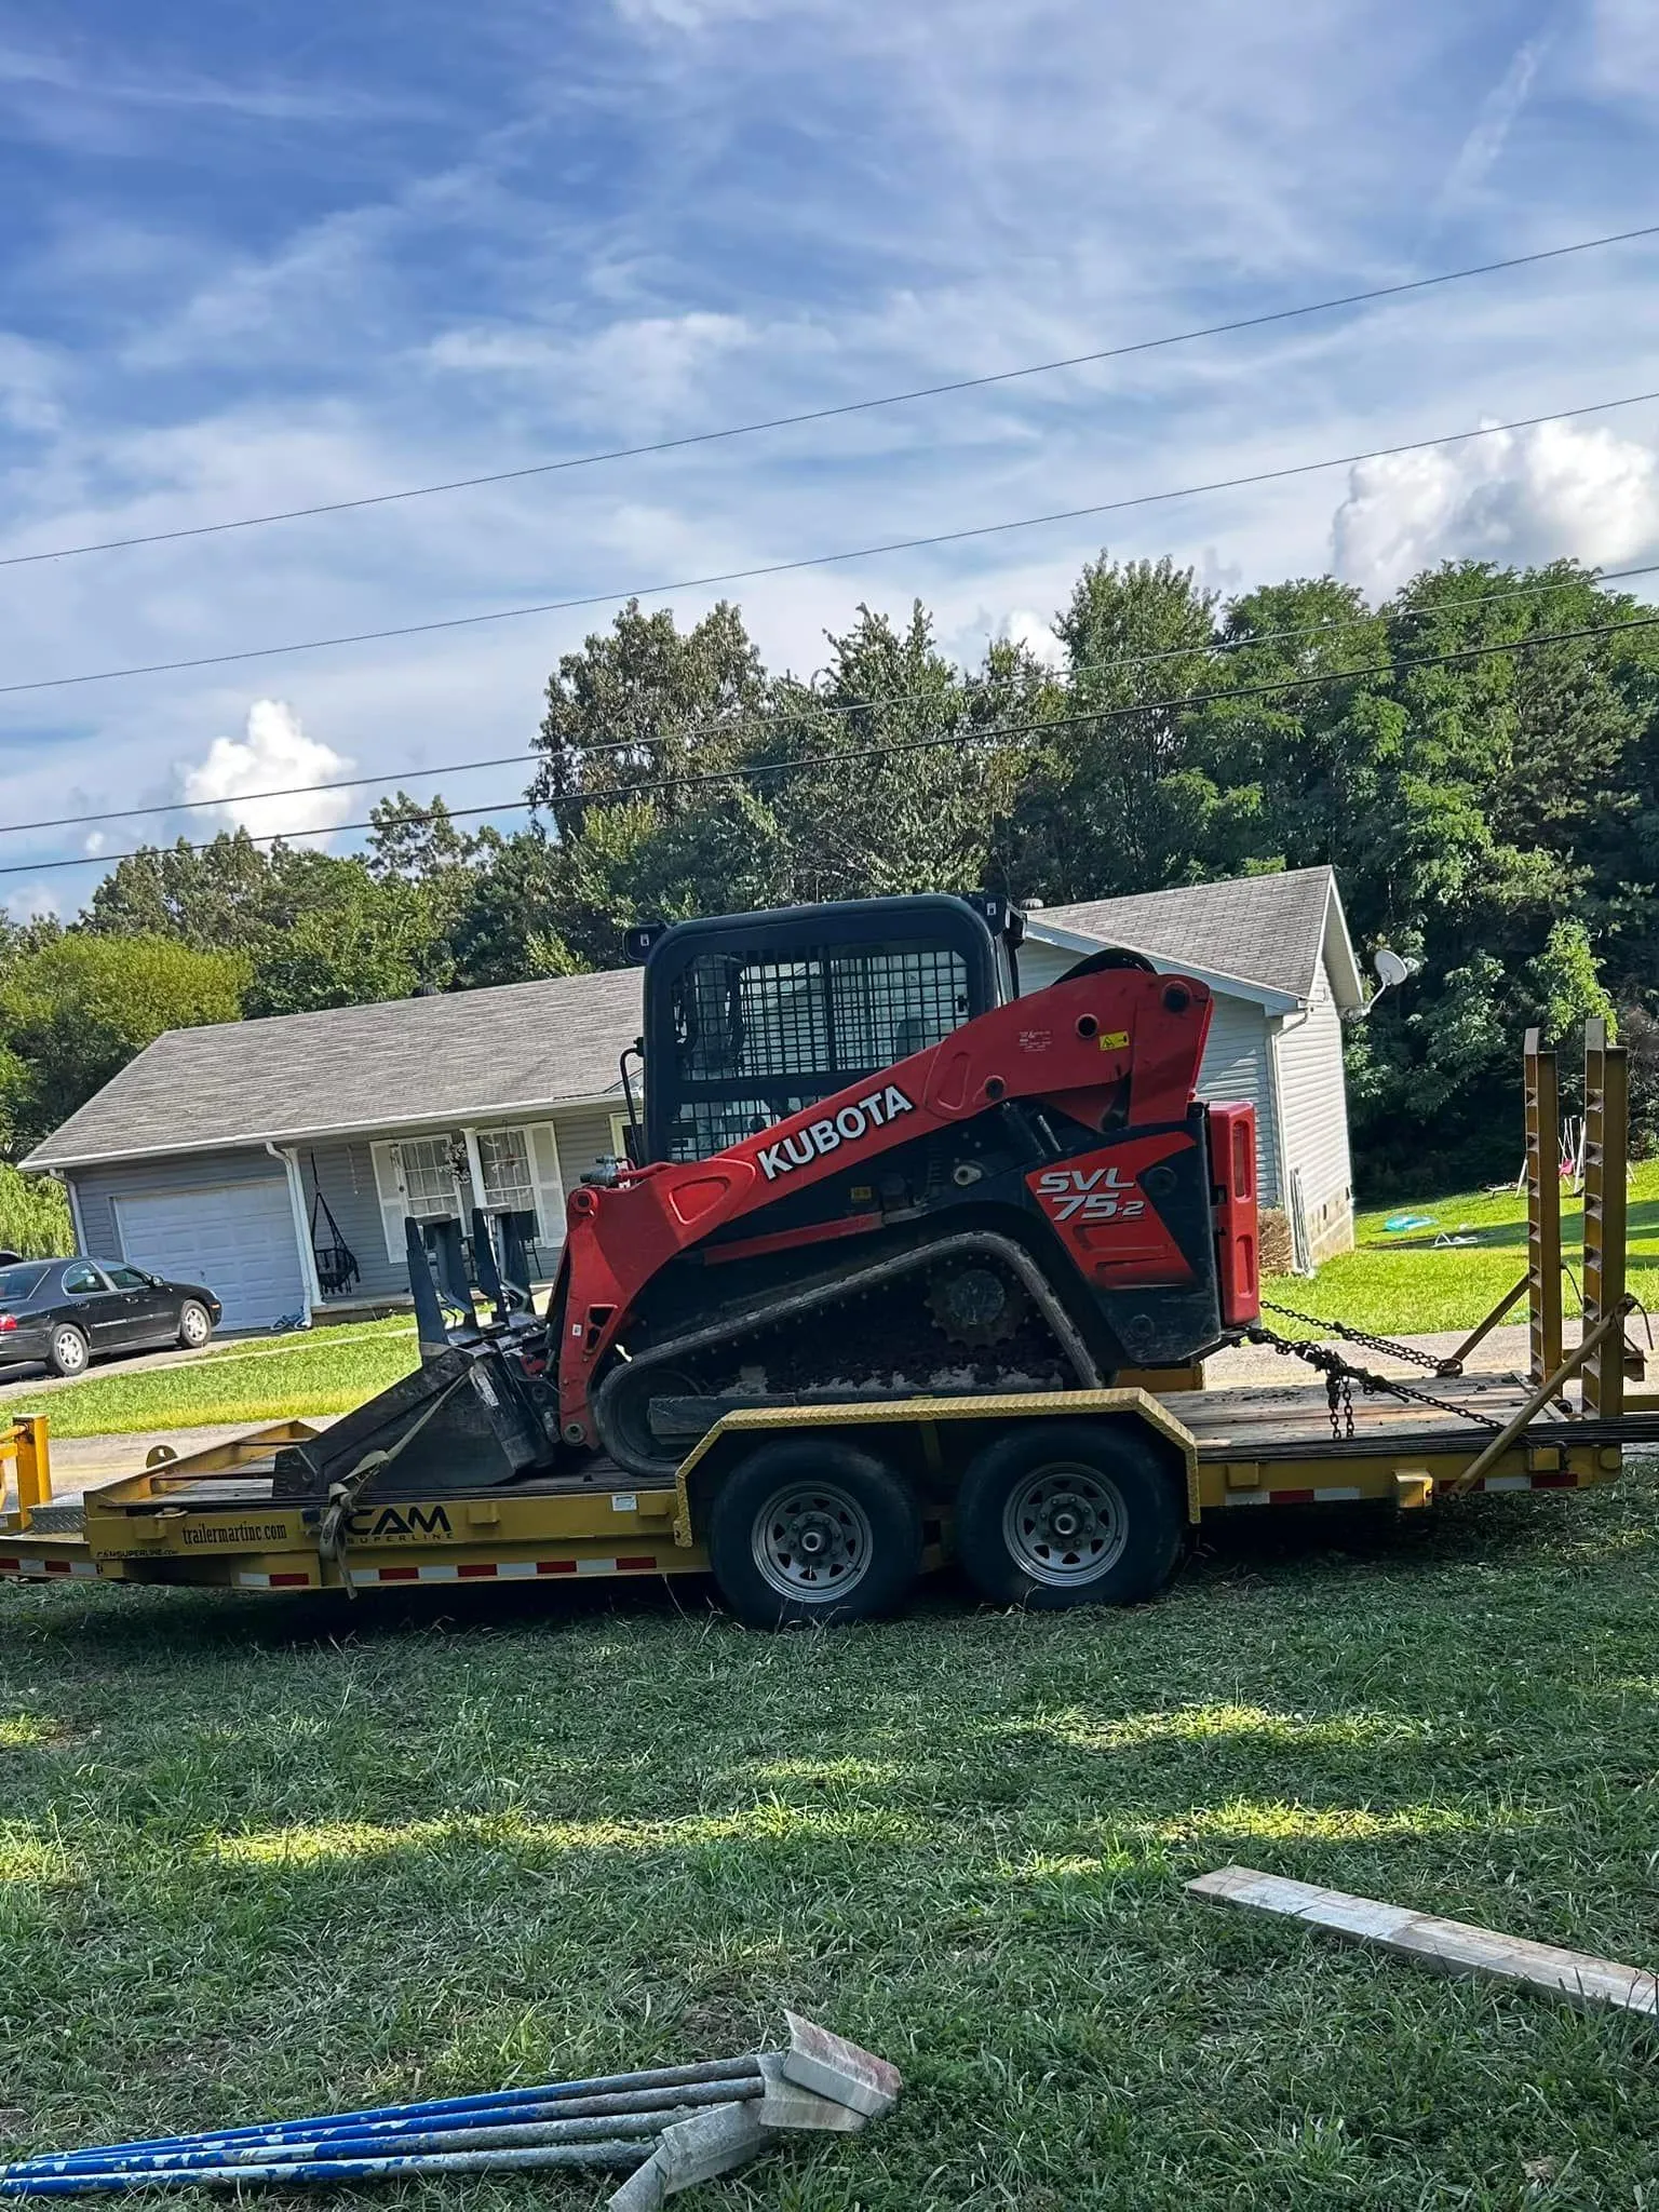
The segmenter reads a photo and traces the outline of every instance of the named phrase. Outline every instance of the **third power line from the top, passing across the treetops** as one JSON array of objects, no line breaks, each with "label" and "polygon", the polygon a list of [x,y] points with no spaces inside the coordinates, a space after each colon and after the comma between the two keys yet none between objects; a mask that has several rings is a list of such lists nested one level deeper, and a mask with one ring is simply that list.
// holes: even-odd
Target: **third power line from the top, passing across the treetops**
[{"label": "third power line from the top, passing across the treetops", "polygon": [[[1659,575],[1659,562],[1644,562],[1637,568],[1604,568],[1604,571],[1599,571],[1593,577],[1593,582],[1597,586],[1599,584],[1624,584],[1630,577],[1639,577],[1639,575]],[[1458,608],[1467,608],[1467,606],[1502,606],[1509,599],[1535,599],[1542,593],[1562,591],[1562,588],[1564,586],[1562,586],[1559,577],[1551,580],[1551,582],[1542,582],[1542,584],[1515,584],[1509,591],[1478,591],[1478,593],[1462,593],[1455,599],[1433,599],[1433,602],[1429,602],[1429,606],[1405,608],[1402,615],[1407,615],[1407,617],[1409,615],[1442,615],[1442,613],[1455,613]],[[1192,659],[1199,653],[1214,653],[1214,655],[1245,653],[1245,650],[1250,650],[1254,646],[1276,646],[1276,644],[1283,644],[1285,639],[1292,639],[1292,637],[1334,637],[1334,635],[1338,635],[1343,630],[1365,628],[1369,622],[1378,622],[1378,619],[1383,619],[1380,611],[1371,611],[1371,613],[1365,613],[1365,615],[1347,615],[1340,622],[1303,622],[1303,624],[1294,624],[1294,626],[1283,628],[1283,630],[1252,630],[1248,637],[1214,637],[1208,644],[1199,644],[1199,646],[1164,646],[1157,653],[1126,653],[1126,655],[1119,655],[1117,659],[1110,659],[1110,661],[1077,661],[1077,666],[1073,666],[1073,668],[1066,670],[1066,677],[1071,681],[1075,681],[1077,677],[1113,675],[1119,668],[1150,668],[1157,661],[1183,661],[1183,659]],[[717,721],[688,723],[684,730],[677,730],[675,734],[679,739],[684,739],[684,741],[708,737],[708,734],[730,737],[734,730],[757,730],[757,728],[768,728],[768,726],[781,723],[781,721],[796,721],[803,712],[814,712],[816,710],[818,714],[865,714],[865,712],[880,712],[883,708],[909,706],[918,697],[920,697],[918,692],[902,692],[902,690],[898,690],[898,692],[872,695],[867,699],[843,699],[843,701],[827,701],[827,699],[825,701],[816,701],[816,699],[807,699],[801,706],[776,708],[776,710],[765,712],[765,714],[728,714],[728,717],[721,717]],[[608,752],[633,752],[637,745],[646,745],[646,743],[653,743],[653,739],[650,737],[617,737],[617,739],[606,739],[606,741],[602,741],[597,745],[582,745],[580,748],[580,757],[584,761],[591,761],[591,759],[597,759],[599,754],[608,754]],[[498,752],[498,754],[484,757],[482,761],[440,761],[434,768],[418,768],[418,765],[387,768],[387,770],[383,770],[380,774],[374,774],[374,776],[338,776],[338,779],[334,779],[330,783],[285,783],[285,785],[279,785],[276,790],[268,790],[268,792],[232,792],[230,799],[234,799],[237,805],[252,805],[254,801],[263,801],[263,799],[307,799],[314,792],[356,792],[356,790],[367,790],[367,787],[372,787],[376,783],[400,783],[405,776],[409,776],[409,779],[414,779],[414,776],[460,776],[460,774],[473,774],[476,770],[484,770],[484,768],[529,768],[529,765],[540,763],[544,759],[546,759],[546,754],[542,754],[542,752]],[[42,821],[33,821],[33,823],[0,823],[0,836],[24,836],[27,832],[33,832],[33,830],[80,830],[80,827],[86,827],[88,823],[137,821],[139,816],[148,816],[148,814],[195,814],[195,812],[199,812],[204,807],[223,807],[226,803],[228,803],[226,799],[164,799],[164,801],[157,801],[155,805],[106,807],[106,810],[102,810],[97,814],[53,814],[53,816],[46,816]],[[427,810],[427,812],[431,812],[431,810]],[[453,812],[453,810],[449,810],[449,812]],[[478,810],[471,810],[471,812],[478,812]],[[484,812],[498,812],[498,810],[489,807]],[[91,860],[97,858],[97,854],[88,854],[86,858],[91,863]],[[53,865],[58,865],[58,863],[53,863]]]}]

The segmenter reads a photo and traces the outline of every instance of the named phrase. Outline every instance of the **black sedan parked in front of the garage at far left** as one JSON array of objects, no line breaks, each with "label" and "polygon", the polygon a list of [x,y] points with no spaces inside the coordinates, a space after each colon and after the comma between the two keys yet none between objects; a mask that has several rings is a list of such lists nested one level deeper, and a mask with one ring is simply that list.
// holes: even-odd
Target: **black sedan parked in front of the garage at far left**
[{"label": "black sedan parked in front of the garage at far left", "polygon": [[77,1376],[111,1352],[195,1352],[219,1312],[201,1283],[164,1283],[126,1261],[22,1259],[0,1267],[0,1365],[44,1360]]}]

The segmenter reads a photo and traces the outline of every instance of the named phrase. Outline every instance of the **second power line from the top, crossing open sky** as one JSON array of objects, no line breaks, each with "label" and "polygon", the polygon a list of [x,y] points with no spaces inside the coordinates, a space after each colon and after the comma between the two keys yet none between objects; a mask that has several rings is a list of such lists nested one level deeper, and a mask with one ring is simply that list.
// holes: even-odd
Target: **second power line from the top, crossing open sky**
[{"label": "second power line from the top, crossing open sky", "polygon": [[1013,522],[980,522],[962,531],[933,531],[927,538],[891,538],[885,544],[852,546],[845,553],[807,553],[801,560],[763,562],[757,568],[723,568],[717,575],[679,577],[675,584],[635,584],[633,591],[591,591],[575,599],[542,599],[535,606],[500,606],[482,615],[449,615],[440,622],[405,622],[389,630],[347,630],[338,637],[305,637],[285,646],[243,646],[237,653],[204,653],[184,661],[146,661],[137,668],[97,668],[73,677],[35,677],[29,684],[0,684],[0,697],[18,692],[66,690],[75,684],[117,684],[126,677],[181,675],[192,668],[228,668],[234,661],[281,659],[285,653],[325,653],[334,646],[372,646],[394,637],[429,637],[438,630],[471,630],[487,622],[522,622],[526,615],[560,615],[582,606],[615,606],[619,599],[661,599],[677,591],[706,591],[714,584],[748,584],[763,575],[794,575],[801,568],[834,568],[843,562],[876,560],[883,553],[916,553],[925,546],[962,544],[969,538],[1004,538],[1011,531],[1033,531],[1051,522],[1082,522],[1093,515],[1115,515],[1130,507],[1161,507],[1170,500],[1192,500],[1206,491],[1243,491],[1250,484],[1279,484],[1294,476],[1318,476],[1325,469],[1352,469],[1363,460],[1389,460],[1396,453],[1422,453],[1436,445],[1467,445],[1471,438],[1498,438],[1511,429],[1537,429],[1542,422],[1575,422],[1582,416],[1610,414],[1617,407],[1641,407],[1659,400],[1659,392],[1632,392],[1617,400],[1590,400],[1584,407],[1553,407],[1540,416],[1517,416],[1513,422],[1482,422],[1478,429],[1442,431],[1438,438],[1409,438],[1402,445],[1378,445],[1365,453],[1332,453],[1325,460],[1298,460],[1283,469],[1256,469],[1250,476],[1221,476],[1208,484],[1179,484],[1172,491],[1139,491],[1126,500],[1097,500],[1093,507],[1062,507],[1046,515],[1020,515]]}]

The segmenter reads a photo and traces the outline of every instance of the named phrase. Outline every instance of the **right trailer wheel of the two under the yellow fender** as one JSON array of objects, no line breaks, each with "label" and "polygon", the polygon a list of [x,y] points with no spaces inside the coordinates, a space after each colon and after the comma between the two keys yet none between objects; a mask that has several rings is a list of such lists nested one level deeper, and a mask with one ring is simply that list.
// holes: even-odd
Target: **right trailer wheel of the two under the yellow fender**
[{"label": "right trailer wheel of the two under the yellow fender", "polygon": [[1037,1420],[989,1444],[962,1478],[956,1548],[1002,1606],[1133,1606],[1175,1573],[1181,1486],[1137,1431]]}]

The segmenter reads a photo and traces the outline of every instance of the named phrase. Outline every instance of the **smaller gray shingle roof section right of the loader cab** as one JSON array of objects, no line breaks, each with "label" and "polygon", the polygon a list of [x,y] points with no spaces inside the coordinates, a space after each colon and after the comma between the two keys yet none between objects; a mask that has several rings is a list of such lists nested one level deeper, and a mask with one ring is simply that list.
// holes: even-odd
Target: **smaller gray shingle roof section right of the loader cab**
[{"label": "smaller gray shingle roof section right of the loader cab", "polygon": [[1332,885],[1329,867],[1296,867],[1279,876],[1232,876],[1175,891],[1044,907],[1031,922],[1053,922],[1102,945],[1126,945],[1155,960],[1186,960],[1287,998],[1307,998],[1325,940]]}]

